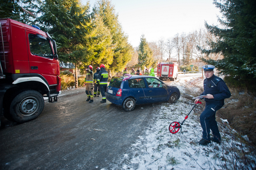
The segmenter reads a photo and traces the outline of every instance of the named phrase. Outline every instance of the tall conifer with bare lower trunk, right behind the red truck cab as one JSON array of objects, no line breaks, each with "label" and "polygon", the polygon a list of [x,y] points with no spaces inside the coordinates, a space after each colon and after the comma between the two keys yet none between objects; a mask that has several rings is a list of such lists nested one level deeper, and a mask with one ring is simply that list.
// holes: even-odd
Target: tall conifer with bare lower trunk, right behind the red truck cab
[{"label": "tall conifer with bare lower trunk, right behind the red truck cab", "polygon": [[[58,43],[60,62],[72,63],[77,71],[82,63],[92,60],[88,50],[94,40],[89,36],[93,30],[89,3],[82,5],[78,0],[45,0],[40,12],[42,16],[37,22],[44,25],[43,30],[52,34]],[[78,87],[76,72],[75,87]]]}]

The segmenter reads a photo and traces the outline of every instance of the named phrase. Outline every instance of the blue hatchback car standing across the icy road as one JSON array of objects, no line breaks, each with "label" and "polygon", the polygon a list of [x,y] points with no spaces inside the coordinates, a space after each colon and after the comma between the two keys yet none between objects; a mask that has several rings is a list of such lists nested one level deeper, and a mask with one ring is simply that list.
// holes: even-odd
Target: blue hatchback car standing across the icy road
[{"label": "blue hatchback car standing across the icy road", "polygon": [[[107,86],[106,99],[116,105],[122,105],[125,111],[132,111],[136,104],[154,102],[176,103],[180,91],[153,76],[133,75],[113,77]],[[125,80],[124,80],[125,79]]]}]

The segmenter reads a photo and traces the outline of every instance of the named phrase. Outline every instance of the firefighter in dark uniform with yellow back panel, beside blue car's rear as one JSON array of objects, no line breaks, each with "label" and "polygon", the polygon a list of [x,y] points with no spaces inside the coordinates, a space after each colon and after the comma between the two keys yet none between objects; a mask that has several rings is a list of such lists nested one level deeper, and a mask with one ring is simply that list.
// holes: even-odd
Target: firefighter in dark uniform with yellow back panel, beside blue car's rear
[{"label": "firefighter in dark uniform with yellow back panel, beside blue car's rear", "polygon": [[102,95],[102,101],[100,101],[101,103],[106,102],[105,92],[107,90],[107,80],[108,80],[108,73],[105,70],[105,65],[102,64],[100,65],[100,71],[99,71],[98,79],[96,82],[96,84],[100,85],[100,91]]}]

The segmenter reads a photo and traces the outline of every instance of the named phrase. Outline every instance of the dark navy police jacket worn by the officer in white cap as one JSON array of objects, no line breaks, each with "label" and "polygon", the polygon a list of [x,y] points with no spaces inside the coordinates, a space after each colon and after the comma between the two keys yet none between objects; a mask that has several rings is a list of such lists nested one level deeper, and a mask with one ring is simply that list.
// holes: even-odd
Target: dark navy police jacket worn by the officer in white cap
[{"label": "dark navy police jacket worn by the officer in white cap", "polygon": [[224,105],[224,99],[229,98],[231,93],[226,83],[219,77],[211,76],[209,79],[204,80],[204,92],[201,95],[213,95],[214,99],[205,98],[206,104],[214,104],[218,106]]}]

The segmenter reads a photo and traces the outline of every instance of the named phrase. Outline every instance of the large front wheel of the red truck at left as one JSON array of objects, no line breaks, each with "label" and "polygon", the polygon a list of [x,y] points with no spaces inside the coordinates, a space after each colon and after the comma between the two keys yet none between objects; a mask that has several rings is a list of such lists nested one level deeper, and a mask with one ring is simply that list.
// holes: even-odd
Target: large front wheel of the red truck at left
[{"label": "large front wheel of the red truck at left", "polygon": [[38,91],[25,90],[13,98],[9,109],[13,120],[23,123],[37,118],[43,108],[43,96]]}]

